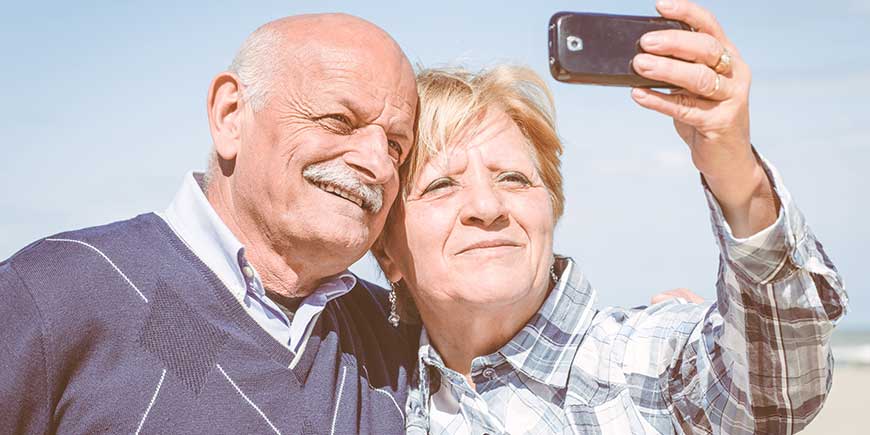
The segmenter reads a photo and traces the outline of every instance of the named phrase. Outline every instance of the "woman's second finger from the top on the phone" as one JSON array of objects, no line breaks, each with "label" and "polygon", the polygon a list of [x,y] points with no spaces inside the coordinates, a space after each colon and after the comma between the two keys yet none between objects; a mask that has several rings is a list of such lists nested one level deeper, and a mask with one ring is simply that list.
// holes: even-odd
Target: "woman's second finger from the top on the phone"
[{"label": "woman's second finger from the top on the phone", "polygon": [[713,68],[725,52],[725,47],[712,35],[685,30],[649,32],[640,39],[644,51],[659,56],[672,56]]}]

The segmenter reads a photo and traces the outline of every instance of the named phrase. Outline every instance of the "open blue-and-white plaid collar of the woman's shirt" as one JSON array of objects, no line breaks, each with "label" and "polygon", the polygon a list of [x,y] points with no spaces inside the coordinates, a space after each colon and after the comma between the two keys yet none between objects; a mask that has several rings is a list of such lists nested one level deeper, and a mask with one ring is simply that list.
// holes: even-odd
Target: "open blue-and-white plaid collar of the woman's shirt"
[{"label": "open blue-and-white plaid collar of the woman's shirt", "polygon": [[[577,348],[595,315],[595,290],[574,260],[557,257],[559,282],[544,304],[507,344],[496,353],[475,358],[473,367],[497,366],[507,361],[514,370],[538,382],[564,388]],[[428,385],[428,370],[447,370],[441,356],[430,344],[425,328],[420,337],[419,376]]]}]

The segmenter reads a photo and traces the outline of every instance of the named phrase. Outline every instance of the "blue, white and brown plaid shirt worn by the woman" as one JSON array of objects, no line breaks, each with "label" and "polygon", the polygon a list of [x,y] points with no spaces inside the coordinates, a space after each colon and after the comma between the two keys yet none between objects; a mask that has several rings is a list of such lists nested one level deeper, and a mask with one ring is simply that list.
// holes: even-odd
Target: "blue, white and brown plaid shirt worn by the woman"
[{"label": "blue, white and brown plaid shirt worn by the woman", "polygon": [[476,388],[419,348],[409,434],[793,433],[831,386],[847,296],[776,170],[777,222],[735,239],[705,189],[721,249],[712,306],[595,308],[570,259],[538,313],[471,366]]}]

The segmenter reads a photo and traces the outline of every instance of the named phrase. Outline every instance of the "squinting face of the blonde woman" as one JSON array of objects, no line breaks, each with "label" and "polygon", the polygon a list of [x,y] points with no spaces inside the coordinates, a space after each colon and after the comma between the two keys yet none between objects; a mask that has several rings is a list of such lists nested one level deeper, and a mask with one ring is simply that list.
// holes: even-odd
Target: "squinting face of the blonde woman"
[{"label": "squinting face of the blonde woman", "polygon": [[531,145],[499,109],[470,130],[410,180],[385,228],[387,277],[404,279],[421,311],[524,303],[549,283],[553,207]]}]

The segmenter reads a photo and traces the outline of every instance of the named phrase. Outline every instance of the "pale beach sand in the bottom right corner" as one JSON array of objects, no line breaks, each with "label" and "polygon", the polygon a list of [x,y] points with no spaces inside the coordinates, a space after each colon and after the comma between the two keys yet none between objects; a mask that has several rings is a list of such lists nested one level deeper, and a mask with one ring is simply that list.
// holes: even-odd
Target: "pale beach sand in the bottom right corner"
[{"label": "pale beach sand in the bottom right corner", "polygon": [[870,434],[870,367],[834,368],[834,385],[805,435]]}]

